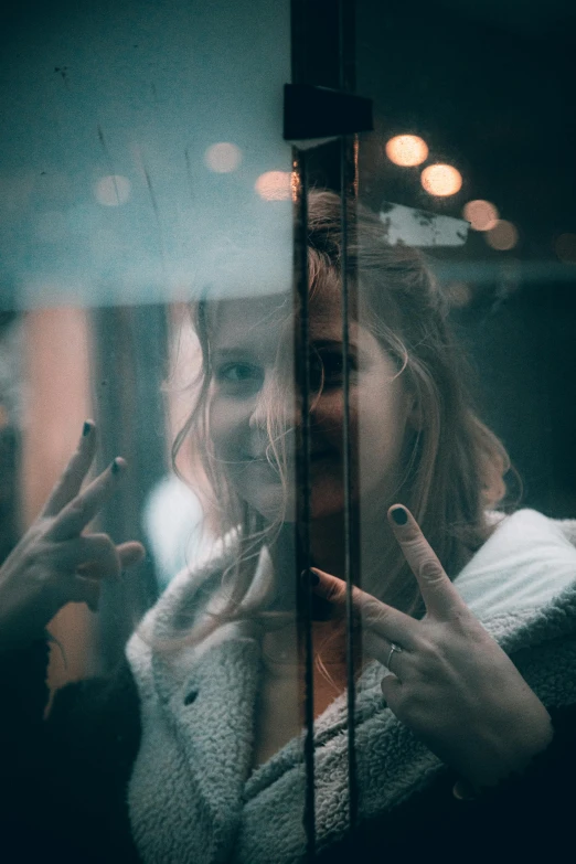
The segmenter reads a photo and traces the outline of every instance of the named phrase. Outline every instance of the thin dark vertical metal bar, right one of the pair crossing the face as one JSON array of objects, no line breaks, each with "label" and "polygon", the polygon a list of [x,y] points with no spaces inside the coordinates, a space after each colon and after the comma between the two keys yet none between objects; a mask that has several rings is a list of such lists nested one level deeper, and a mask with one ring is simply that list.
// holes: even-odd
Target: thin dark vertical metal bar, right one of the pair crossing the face
[{"label": "thin dark vertical metal bar, right one of the pair crossing the face", "polygon": [[[353,89],[354,73],[354,4],[350,0],[339,2],[339,85],[343,90]],[[355,727],[355,621],[352,601],[354,577],[358,579],[358,548],[353,537],[358,536],[352,508],[352,438],[350,433],[350,351],[351,306],[355,305],[355,274],[351,274],[349,260],[349,215],[358,192],[356,160],[358,139],[340,138],[340,200],[342,226],[341,297],[342,297],[342,354],[343,354],[343,483],[344,483],[344,573],[346,580],[346,708],[348,708],[348,790],[350,846],[353,846],[358,822],[359,789],[356,765]],[[350,278],[352,276],[352,279]],[[353,296],[351,297],[351,294]],[[354,442],[358,449],[358,441]],[[354,561],[355,558],[355,561]]]}]

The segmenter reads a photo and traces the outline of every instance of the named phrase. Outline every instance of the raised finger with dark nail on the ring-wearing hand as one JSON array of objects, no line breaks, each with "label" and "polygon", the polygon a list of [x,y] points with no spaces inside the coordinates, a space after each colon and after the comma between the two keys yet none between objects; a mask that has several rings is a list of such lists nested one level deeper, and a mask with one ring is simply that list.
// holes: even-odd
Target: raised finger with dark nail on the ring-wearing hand
[{"label": "raised finger with dark nail on the ring-wearing hand", "polygon": [[460,596],[420,526],[410,511],[401,504],[390,508],[388,520],[404,557],[418,580],[426,609],[440,618],[449,617],[461,606]]}]

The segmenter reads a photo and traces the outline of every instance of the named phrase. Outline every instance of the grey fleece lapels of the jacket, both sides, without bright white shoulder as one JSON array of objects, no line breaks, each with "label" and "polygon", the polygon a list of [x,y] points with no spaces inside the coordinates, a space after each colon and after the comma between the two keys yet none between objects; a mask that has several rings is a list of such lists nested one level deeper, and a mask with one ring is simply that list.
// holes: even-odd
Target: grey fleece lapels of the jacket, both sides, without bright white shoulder
[{"label": "grey fleece lapels of the jacket, both sides, without bright white shoulder", "polygon": [[[157,636],[170,632],[169,622],[192,605],[191,596],[190,582],[174,587],[158,616],[167,629]],[[541,698],[547,704],[576,698],[574,586],[538,608],[480,617]],[[305,842],[301,742],[290,742],[249,777],[260,674],[250,627],[221,627],[201,646],[177,652],[149,648],[140,660],[131,653],[142,697],[142,746],[130,783],[130,817],[146,864],[213,864],[231,855],[243,864],[296,861]],[[423,788],[441,768],[384,707],[382,673],[371,664],[359,687],[363,818]],[[348,823],[345,728],[344,695],[316,724],[320,846],[341,836]]]}]

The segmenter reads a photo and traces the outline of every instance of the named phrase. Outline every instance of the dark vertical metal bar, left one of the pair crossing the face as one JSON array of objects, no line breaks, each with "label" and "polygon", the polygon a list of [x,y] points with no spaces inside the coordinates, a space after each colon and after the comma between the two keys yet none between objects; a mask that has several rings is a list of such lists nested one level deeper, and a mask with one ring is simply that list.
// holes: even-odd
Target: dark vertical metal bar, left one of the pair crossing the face
[{"label": "dark vertical metal bar, left one of the pair crossing the face", "polygon": [[[307,0],[291,2],[292,83],[307,81]],[[308,318],[308,178],[303,151],[292,148],[295,199],[295,380],[300,408],[297,424],[297,612],[299,650],[305,655],[305,812],[306,860],[316,858],[314,702],[312,644],[312,587],[310,583],[310,353]],[[302,579],[301,574],[306,573]]]}]

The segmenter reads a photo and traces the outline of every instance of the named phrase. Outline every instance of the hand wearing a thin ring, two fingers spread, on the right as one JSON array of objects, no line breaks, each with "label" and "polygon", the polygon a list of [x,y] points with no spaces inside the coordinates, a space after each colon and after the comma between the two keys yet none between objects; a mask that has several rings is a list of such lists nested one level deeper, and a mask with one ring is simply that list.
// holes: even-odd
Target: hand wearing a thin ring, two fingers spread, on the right
[{"label": "hand wearing a thin ring, two fingers spread, on the right", "polygon": [[[390,671],[383,694],[396,717],[476,788],[497,783],[550,744],[550,715],[468,609],[409,511],[394,505],[388,520],[426,615],[416,620],[354,588],[364,646]],[[313,590],[342,607],[345,584],[313,572]]]}]

